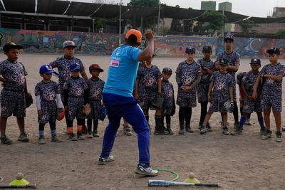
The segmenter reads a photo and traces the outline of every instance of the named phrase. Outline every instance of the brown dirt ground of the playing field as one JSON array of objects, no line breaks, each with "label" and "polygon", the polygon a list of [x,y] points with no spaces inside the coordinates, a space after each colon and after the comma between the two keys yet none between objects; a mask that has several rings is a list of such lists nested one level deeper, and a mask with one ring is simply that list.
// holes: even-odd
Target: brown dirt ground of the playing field
[{"label": "brown dirt ground of the playing field", "polygon": [[[56,57],[58,55],[20,55],[19,61],[24,63],[28,71],[28,90],[32,94],[36,83],[41,80],[38,74],[39,66],[51,62]],[[0,58],[3,60],[5,57],[2,54]],[[107,71],[108,57],[78,56],[78,58],[81,58],[86,68],[91,63],[98,63]],[[183,58],[155,58],[153,63],[160,70],[170,67],[175,71],[182,60]],[[267,63],[266,60],[262,61],[263,65]],[[249,59],[242,59],[239,71],[246,70],[249,70]],[[105,80],[106,73],[102,73],[100,78]],[[88,75],[90,76],[89,73]],[[172,75],[170,79],[177,88],[174,83],[175,76]],[[4,178],[0,185],[9,184],[20,171],[24,173],[25,179],[38,184],[38,189],[165,189],[165,187],[147,187],[147,180],[170,180],[174,177],[172,174],[161,172],[156,177],[134,179],[133,171],[138,162],[137,136],[123,135],[122,128],[118,132],[113,148],[115,161],[99,166],[98,157],[107,120],[99,122],[100,137],[77,142],[68,142],[64,120],[57,122],[58,136],[65,141],[60,144],[49,142],[51,134],[49,127],[46,126],[47,144],[39,145],[36,105],[33,104],[26,111],[26,132],[29,134],[30,142],[16,140],[19,135],[16,118],[9,117],[6,134],[11,137],[14,144],[11,146],[0,144],[0,176]],[[214,113],[210,120],[214,131],[200,135],[197,129],[199,104],[192,113],[191,126],[195,130],[194,134],[177,134],[179,124],[176,114],[172,117],[174,135],[151,135],[152,167],[176,171],[180,174],[180,179],[177,181],[183,181],[190,172],[194,172],[197,179],[203,183],[219,182],[222,186],[219,189],[285,189],[284,142],[275,142],[275,135],[272,135],[271,139],[261,140],[255,114],[252,115],[252,126],[244,126],[242,136],[233,137],[222,134],[218,113]],[[233,120],[233,116],[229,115],[230,130],[233,130]],[[152,128],[154,123],[154,112],[151,111]],[[272,116],[271,128],[275,132]],[[171,186],[167,189],[188,188]]]}]

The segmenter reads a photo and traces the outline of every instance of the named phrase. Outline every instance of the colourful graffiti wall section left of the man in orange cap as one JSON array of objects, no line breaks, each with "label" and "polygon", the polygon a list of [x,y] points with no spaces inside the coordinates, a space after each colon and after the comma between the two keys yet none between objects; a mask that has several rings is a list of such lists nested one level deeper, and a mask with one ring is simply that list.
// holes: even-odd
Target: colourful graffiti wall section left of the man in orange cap
[{"label": "colourful graffiti wall section left of the man in orange cap", "polygon": [[61,53],[64,41],[76,43],[76,53],[108,55],[118,46],[117,34],[66,31],[27,31],[0,28],[1,44],[13,41],[31,53]]}]

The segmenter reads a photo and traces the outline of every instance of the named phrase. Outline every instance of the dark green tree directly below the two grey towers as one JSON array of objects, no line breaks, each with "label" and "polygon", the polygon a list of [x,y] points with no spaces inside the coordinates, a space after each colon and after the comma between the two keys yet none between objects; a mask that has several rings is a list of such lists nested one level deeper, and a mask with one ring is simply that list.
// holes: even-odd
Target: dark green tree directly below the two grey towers
[{"label": "dark green tree directly below the two grey towers", "polygon": [[214,33],[222,29],[224,18],[224,15],[218,11],[206,11],[199,21],[207,22],[204,25],[205,30],[209,33]]}]

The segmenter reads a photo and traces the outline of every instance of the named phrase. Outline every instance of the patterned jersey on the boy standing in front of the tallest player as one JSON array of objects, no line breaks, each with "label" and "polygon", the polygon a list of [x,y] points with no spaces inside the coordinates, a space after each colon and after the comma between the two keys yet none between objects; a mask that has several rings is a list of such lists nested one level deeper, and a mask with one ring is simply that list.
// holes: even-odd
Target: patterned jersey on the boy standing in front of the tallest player
[{"label": "patterned jersey on the boy standing in front of the tallest player", "polygon": [[232,76],[229,73],[216,71],[211,76],[211,80],[214,83],[212,101],[227,102],[229,100],[229,87],[232,86]]}]

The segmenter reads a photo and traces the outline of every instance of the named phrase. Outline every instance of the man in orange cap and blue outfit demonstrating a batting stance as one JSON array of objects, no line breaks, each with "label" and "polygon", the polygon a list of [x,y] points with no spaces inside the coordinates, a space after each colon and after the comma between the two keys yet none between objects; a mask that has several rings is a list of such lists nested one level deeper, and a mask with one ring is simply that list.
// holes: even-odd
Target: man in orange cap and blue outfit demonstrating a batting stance
[{"label": "man in orange cap and blue outfit demonstrating a batting stance", "polygon": [[142,41],[142,33],[131,29],[125,35],[125,44],[116,48],[110,57],[103,90],[103,102],[107,108],[109,124],[105,130],[98,164],[105,165],[113,161],[110,152],[120,127],[120,119],[123,117],[138,134],[139,162],[135,173],[156,176],[158,171],[150,167],[150,128],[138,100],[133,97],[138,62],[149,60],[154,53],[152,31],[147,31],[145,38],[148,41],[147,47],[140,51],[138,46]]}]

